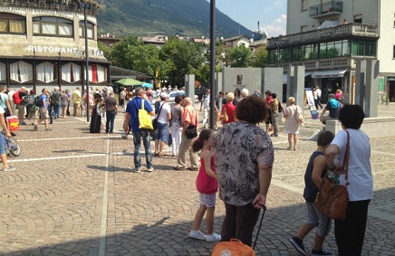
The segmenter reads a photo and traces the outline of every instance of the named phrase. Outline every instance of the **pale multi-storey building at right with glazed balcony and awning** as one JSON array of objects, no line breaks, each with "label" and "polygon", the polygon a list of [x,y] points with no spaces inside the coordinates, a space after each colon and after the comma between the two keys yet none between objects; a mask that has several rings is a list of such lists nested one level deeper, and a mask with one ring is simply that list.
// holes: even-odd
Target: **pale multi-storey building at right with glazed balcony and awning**
[{"label": "pale multi-storey building at right with glazed balcony and awning", "polygon": [[358,60],[380,61],[379,91],[395,101],[395,5],[391,0],[288,0],[287,34],[268,39],[269,65],[304,65],[305,87],[353,103]]}]

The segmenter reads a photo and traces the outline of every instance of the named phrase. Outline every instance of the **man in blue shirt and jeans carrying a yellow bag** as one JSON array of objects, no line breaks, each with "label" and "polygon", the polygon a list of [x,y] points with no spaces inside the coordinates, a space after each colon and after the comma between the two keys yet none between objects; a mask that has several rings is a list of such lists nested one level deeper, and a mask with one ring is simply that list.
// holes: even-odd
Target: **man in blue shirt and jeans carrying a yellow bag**
[{"label": "man in blue shirt and jeans carrying a yellow bag", "polygon": [[139,128],[139,109],[141,109],[142,100],[144,100],[144,109],[149,112],[150,116],[155,115],[155,111],[149,104],[149,100],[145,99],[145,90],[141,87],[135,90],[136,97],[128,102],[125,113],[125,122],[129,124],[131,119],[131,130],[133,132],[133,143],[134,143],[134,168],[131,170],[135,173],[140,173],[141,171],[141,157],[140,157],[140,146],[141,138],[145,147],[145,158],[147,163],[148,172],[154,170],[152,166],[152,153],[150,147],[150,137],[149,129]]}]

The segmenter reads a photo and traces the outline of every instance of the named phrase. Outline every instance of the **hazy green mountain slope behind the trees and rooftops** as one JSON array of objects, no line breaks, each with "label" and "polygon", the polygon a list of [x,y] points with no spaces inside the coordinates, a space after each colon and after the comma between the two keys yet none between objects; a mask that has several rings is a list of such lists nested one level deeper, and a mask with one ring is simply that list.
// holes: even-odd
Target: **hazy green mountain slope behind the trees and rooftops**
[{"label": "hazy green mountain slope behind the trees and rooftops", "polygon": [[[209,37],[210,4],[207,0],[98,0],[98,33],[149,36],[179,34]],[[230,4],[229,4],[230,5]],[[237,24],[226,14],[216,12],[217,37],[252,31]]]}]

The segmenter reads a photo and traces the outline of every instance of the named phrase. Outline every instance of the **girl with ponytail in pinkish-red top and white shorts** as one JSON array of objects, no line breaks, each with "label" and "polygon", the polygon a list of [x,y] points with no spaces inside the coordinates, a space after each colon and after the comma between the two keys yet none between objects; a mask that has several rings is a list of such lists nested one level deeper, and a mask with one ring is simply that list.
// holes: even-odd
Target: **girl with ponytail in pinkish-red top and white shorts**
[{"label": "girl with ponytail in pinkish-red top and white shorts", "polygon": [[[221,235],[214,232],[214,210],[216,206],[216,193],[218,189],[217,174],[214,166],[214,155],[211,152],[213,147],[214,132],[210,129],[203,129],[197,140],[192,144],[193,151],[201,151],[200,168],[196,181],[200,194],[200,207],[195,215],[193,229],[189,232],[189,237],[207,242],[221,241]],[[200,223],[206,213],[207,235],[200,232]]]}]

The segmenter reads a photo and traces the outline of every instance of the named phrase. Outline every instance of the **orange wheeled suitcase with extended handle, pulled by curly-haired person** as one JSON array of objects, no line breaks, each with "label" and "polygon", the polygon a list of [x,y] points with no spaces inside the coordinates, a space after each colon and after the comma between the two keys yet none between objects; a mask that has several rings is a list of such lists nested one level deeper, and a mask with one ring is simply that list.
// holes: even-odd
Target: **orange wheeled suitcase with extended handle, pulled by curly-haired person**
[{"label": "orange wheeled suitcase with extended handle, pulled by curly-haired person", "polygon": [[[216,247],[214,248],[213,253],[211,254],[211,256],[221,256],[221,255],[232,255],[232,256],[237,256],[237,255],[243,255],[243,256],[255,256],[255,246],[256,246],[256,241],[258,240],[258,236],[259,236],[259,232],[261,231],[261,227],[262,227],[262,222],[264,221],[264,216],[265,216],[265,212],[266,212],[266,206],[265,205],[261,205],[262,209],[264,210],[262,213],[262,217],[261,217],[261,222],[259,223],[258,226],[258,232],[256,232],[256,237],[255,237],[255,242],[254,242],[254,246],[253,248],[249,247],[248,245],[244,244],[243,242],[241,242],[238,239],[231,239],[230,242],[219,242]],[[246,213],[246,212],[245,212]],[[244,213],[243,213],[243,218],[242,220],[244,220]],[[240,228],[241,225],[243,224],[240,223]],[[240,228],[238,229],[240,232]],[[238,237],[238,233],[236,235],[236,237]]]}]

